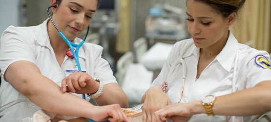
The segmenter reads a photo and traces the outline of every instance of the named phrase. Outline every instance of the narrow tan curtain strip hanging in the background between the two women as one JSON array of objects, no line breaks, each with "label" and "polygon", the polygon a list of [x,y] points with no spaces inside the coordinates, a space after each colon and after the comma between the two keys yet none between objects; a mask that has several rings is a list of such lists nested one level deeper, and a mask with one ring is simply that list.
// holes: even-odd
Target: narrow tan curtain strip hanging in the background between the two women
[{"label": "narrow tan curtain strip hanging in the background between the two women", "polygon": [[116,52],[125,53],[130,50],[130,14],[131,0],[119,0],[118,20],[120,28],[117,35]]}]

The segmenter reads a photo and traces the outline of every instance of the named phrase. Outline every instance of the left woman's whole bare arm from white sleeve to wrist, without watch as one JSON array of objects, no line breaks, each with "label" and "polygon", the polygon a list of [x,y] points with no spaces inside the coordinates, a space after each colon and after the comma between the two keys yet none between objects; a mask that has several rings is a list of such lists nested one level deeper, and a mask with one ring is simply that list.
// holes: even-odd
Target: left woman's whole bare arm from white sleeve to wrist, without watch
[{"label": "left woman's whole bare arm from white sleeve to wrist, without watch", "polygon": [[63,93],[61,87],[43,76],[32,62],[12,63],[4,78],[18,92],[46,111],[69,116],[91,115],[92,104],[70,93]]}]

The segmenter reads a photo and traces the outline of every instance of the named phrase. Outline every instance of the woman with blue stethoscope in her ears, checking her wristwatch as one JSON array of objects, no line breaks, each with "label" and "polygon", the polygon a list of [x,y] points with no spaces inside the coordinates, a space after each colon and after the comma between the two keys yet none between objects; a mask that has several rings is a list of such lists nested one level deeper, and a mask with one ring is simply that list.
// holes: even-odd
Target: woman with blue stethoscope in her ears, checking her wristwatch
[{"label": "woman with blue stethoscope in her ears, checking her wristwatch", "polygon": [[[83,41],[76,38],[88,27],[100,1],[51,0],[49,8],[58,29],[47,19],[38,26],[10,26],[4,31],[0,48],[0,106],[29,99],[57,114],[98,122],[129,122],[121,110],[128,106],[127,97],[117,84],[110,64],[101,57],[103,48],[90,43],[82,45]],[[63,37],[81,48],[70,51]],[[72,55],[74,51],[78,57]],[[101,107],[66,91],[87,94]],[[18,111],[32,112],[27,106]]]}]

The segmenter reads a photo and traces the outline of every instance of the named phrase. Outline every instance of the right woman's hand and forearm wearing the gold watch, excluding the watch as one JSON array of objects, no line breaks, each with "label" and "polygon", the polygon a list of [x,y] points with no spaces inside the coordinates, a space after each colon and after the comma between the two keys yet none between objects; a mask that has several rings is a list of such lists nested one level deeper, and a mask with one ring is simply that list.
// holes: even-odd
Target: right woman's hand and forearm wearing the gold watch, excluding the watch
[{"label": "right woman's hand and forearm wearing the gold watch, excluding the watch", "polygon": [[[212,110],[214,115],[251,116],[271,111],[270,102],[271,81],[262,81],[252,88],[216,97]],[[158,122],[187,122],[195,114],[206,114],[201,101],[167,106],[155,112]]]}]

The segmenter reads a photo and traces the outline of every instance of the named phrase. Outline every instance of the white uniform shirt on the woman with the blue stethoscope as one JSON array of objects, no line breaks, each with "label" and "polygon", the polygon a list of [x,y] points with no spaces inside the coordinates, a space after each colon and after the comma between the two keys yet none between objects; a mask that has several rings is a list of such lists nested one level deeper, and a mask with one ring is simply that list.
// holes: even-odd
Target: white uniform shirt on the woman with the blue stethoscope
[{"label": "white uniform shirt on the woman with the blue stethoscope", "polygon": [[[75,69],[75,59],[67,56],[65,56],[63,64],[59,65],[47,33],[48,20],[32,27],[9,26],[3,32],[0,47],[0,75],[2,78],[0,106],[13,100],[27,99],[3,78],[6,69],[13,62],[33,62],[39,67],[42,75],[57,84],[61,84],[66,77],[65,70]],[[79,38],[74,40],[76,44],[79,44],[81,41]],[[99,45],[84,43],[79,49],[79,61],[82,71],[86,70],[91,77],[103,80],[104,84],[117,83],[110,64],[101,57],[102,51],[103,47]],[[82,95],[78,96],[82,97]]]}]

